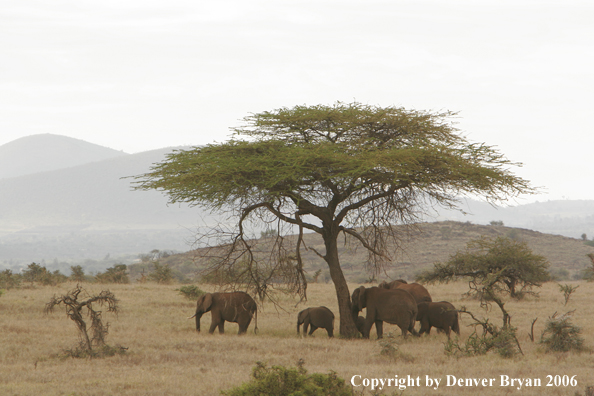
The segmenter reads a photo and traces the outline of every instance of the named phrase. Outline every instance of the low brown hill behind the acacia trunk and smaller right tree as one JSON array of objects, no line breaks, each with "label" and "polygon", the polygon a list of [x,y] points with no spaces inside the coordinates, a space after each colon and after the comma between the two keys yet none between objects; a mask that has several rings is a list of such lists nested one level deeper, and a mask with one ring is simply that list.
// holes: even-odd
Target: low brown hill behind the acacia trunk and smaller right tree
[{"label": "low brown hill behind the acacia trunk and smaller right tree", "polygon": [[[560,274],[567,279],[590,265],[586,254],[594,253],[594,247],[585,245],[582,240],[532,230],[453,221],[422,223],[416,230],[411,230],[408,239],[403,240],[402,250],[394,256],[391,268],[379,274],[377,279],[412,280],[418,272],[432,268],[437,262],[448,260],[452,254],[463,250],[468,241],[480,236],[508,236],[525,241],[534,253],[547,258],[553,274]],[[319,235],[305,234],[304,241],[308,247],[323,254],[324,245]],[[166,262],[191,278],[197,271],[197,267],[192,263],[199,254],[200,250],[176,254],[168,257]],[[339,245],[339,255],[341,266],[349,281],[363,283],[370,279],[370,274],[363,269],[367,254],[356,241],[347,238],[346,244]],[[303,257],[309,276],[321,269],[320,279],[330,281],[327,266],[320,257],[311,250],[305,252]]]}]

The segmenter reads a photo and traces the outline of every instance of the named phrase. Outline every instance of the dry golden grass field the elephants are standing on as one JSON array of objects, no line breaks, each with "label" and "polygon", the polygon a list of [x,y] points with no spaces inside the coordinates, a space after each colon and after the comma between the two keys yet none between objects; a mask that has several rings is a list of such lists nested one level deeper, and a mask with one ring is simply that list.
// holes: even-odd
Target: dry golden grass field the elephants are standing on
[{"label": "dry golden grass field the elephants are standing on", "polygon": [[[259,333],[254,335],[252,321],[248,334],[241,337],[236,334],[237,325],[232,323],[227,323],[224,335],[208,334],[210,314],[203,316],[203,331],[197,333],[193,320],[186,319],[193,314],[195,303],[179,294],[177,285],[84,284],[91,293],[109,289],[120,300],[118,316],[103,316],[111,324],[107,343],[129,349],[125,355],[101,359],[60,358],[63,349],[77,343],[77,329],[63,307],[45,314],[44,305],[54,294],[65,294],[75,284],[12,289],[0,297],[0,395],[218,395],[221,390],[248,381],[256,361],[294,366],[299,359],[305,361],[309,373],[334,370],[349,383],[354,375],[370,379],[395,375],[420,378],[420,387],[407,387],[404,391],[385,388],[382,394],[386,395],[584,394],[587,385],[594,385],[594,354],[546,354],[528,339],[532,319],[539,318],[535,325],[539,338],[548,316],[555,311],[575,309],[573,322],[582,328],[586,345],[594,348],[594,284],[570,283],[579,284],[579,288],[567,306],[563,305],[556,283],[545,284],[540,298],[528,297],[506,304],[512,324],[519,329],[524,351],[524,356],[512,359],[492,353],[458,359],[446,356],[446,336],[435,330],[428,337],[399,340],[396,359],[380,355],[380,346],[373,340],[375,330],[372,340],[328,339],[323,329],[317,330],[313,338],[299,338],[297,312],[318,305],[338,312],[332,284],[309,285],[309,300],[298,307],[292,297],[281,296],[285,311],[265,303],[258,313]],[[349,286],[353,290],[359,285]],[[428,289],[434,301],[447,300],[456,307],[465,305],[475,315],[491,317],[500,325],[501,315],[496,307],[485,313],[477,301],[462,298],[465,283],[433,285]],[[467,315],[462,315],[463,339],[472,332],[467,327],[470,322]],[[384,333],[389,331],[400,334],[395,326],[384,325]],[[338,334],[338,318],[335,333]],[[448,387],[447,375],[496,381],[491,387]],[[540,378],[542,386],[523,386],[520,390],[517,385],[502,387],[500,375]],[[576,376],[578,384],[547,387],[547,375]],[[426,376],[441,379],[437,390],[425,386]],[[365,394],[372,394],[368,391]]]}]

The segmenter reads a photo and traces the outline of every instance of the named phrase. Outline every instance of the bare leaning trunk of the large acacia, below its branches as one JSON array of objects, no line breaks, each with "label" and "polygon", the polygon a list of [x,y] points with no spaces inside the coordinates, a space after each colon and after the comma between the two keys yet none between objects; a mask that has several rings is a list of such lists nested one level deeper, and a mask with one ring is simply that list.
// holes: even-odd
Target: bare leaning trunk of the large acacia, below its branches
[{"label": "bare leaning trunk of the large acacia, below its branches", "polygon": [[338,233],[324,235],[324,245],[326,246],[326,255],[324,259],[330,269],[330,277],[336,289],[336,298],[338,300],[338,310],[340,314],[340,335],[347,338],[353,338],[357,335],[357,327],[351,311],[351,294],[347,285],[340,261],[338,259]]}]

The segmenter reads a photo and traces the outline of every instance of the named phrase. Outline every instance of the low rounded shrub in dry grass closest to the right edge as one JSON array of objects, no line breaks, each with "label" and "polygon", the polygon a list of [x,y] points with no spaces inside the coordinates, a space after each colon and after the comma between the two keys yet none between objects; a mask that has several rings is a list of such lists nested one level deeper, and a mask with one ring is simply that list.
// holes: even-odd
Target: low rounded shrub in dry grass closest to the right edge
[{"label": "low rounded shrub in dry grass closest to the right edge", "polygon": [[540,343],[544,345],[546,352],[586,350],[584,339],[580,335],[582,330],[569,320],[573,312],[567,312],[559,317],[555,312],[549,317],[540,337]]}]

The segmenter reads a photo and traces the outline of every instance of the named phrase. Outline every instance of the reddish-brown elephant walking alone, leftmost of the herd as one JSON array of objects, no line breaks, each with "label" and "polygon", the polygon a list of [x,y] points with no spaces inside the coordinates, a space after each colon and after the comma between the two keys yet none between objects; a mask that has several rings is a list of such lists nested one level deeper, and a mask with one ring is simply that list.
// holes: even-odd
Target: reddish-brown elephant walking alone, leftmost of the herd
[{"label": "reddish-brown elephant walking alone, leftmost of the herd", "polygon": [[196,318],[196,331],[200,331],[200,318],[210,311],[212,322],[210,334],[219,328],[219,333],[225,332],[225,321],[239,324],[239,333],[247,331],[252,316],[256,315],[256,328],[258,329],[258,306],[252,297],[245,292],[232,293],[206,293],[198,298],[196,313],[188,319]]}]

